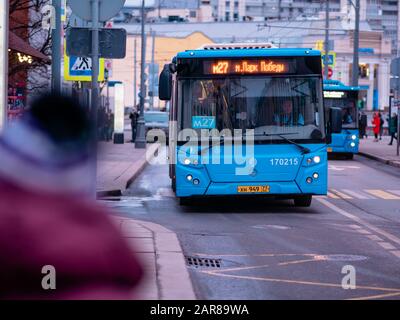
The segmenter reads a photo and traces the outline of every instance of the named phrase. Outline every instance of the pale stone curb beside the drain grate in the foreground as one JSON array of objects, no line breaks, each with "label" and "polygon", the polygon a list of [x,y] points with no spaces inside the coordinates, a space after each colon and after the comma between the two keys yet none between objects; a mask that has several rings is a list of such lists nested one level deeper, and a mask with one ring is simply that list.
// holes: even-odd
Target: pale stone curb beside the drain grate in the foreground
[{"label": "pale stone curb beside the drain grate in the foreground", "polygon": [[153,235],[158,299],[196,300],[192,280],[186,266],[186,259],[176,233],[152,222],[128,218],[122,219],[125,223],[133,224],[130,227],[133,228],[131,236],[137,234],[138,231],[135,231],[137,226],[148,230]]}]

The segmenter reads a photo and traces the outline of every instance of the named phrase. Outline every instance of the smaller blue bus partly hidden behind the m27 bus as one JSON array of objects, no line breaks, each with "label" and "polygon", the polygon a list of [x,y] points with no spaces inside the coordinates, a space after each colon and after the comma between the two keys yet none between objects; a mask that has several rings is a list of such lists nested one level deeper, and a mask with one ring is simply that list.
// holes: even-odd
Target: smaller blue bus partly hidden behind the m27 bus
[{"label": "smaller blue bus partly hidden behind the m27 bus", "polygon": [[324,81],[325,107],[330,110],[332,107],[342,110],[342,131],[332,134],[332,142],[328,145],[329,153],[345,155],[353,159],[358,153],[359,137],[358,130],[358,100],[359,87],[349,87],[337,80]]}]

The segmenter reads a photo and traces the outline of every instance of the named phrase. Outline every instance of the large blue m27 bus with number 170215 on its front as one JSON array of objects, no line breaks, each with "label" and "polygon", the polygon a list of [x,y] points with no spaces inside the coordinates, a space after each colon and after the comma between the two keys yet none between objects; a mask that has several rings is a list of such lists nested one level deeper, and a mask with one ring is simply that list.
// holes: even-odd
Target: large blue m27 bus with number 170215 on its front
[{"label": "large blue m27 bus with number 170215 on its front", "polygon": [[341,114],[333,108],[325,121],[320,51],[231,44],[180,52],[164,66],[159,97],[170,103],[170,177],[181,204],[247,195],[308,207],[327,194],[326,146]]}]

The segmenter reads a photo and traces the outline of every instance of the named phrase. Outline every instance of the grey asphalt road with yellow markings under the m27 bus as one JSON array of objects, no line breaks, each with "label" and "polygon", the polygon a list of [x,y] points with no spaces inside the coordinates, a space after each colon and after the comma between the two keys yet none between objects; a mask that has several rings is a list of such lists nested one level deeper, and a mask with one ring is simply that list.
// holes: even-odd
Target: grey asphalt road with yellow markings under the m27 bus
[{"label": "grey asphalt road with yellow markings under the m27 bus", "polygon": [[[400,299],[400,170],[355,157],[329,171],[328,197],[304,209],[242,198],[181,207],[166,166],[109,204],[178,234],[203,263],[188,265],[199,299]],[[356,289],[343,289],[343,268]]]}]

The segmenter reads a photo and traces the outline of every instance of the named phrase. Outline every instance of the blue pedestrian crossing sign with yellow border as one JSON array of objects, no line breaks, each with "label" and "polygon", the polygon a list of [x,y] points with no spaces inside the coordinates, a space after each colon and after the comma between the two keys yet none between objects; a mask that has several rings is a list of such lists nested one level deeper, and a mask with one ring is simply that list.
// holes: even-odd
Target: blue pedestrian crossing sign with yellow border
[{"label": "blue pedestrian crossing sign with yellow border", "polygon": [[[104,81],[104,59],[100,59],[99,82]],[[64,57],[64,78],[66,81],[92,81],[92,59]]]}]

